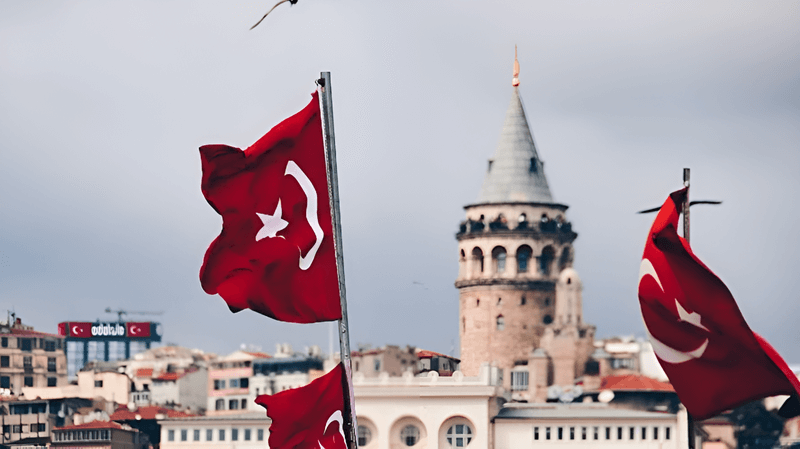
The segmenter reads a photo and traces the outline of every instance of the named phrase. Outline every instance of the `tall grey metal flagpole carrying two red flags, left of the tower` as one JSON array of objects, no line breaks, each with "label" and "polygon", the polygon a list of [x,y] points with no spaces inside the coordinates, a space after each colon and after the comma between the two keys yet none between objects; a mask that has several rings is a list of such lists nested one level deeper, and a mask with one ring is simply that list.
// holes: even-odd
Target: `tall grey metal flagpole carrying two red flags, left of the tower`
[{"label": "tall grey metal flagpole carrying two red flags, left of the tower", "polygon": [[339,320],[339,351],[345,372],[344,427],[347,435],[347,446],[358,448],[356,439],[356,407],[353,394],[353,372],[350,367],[350,333],[347,325],[347,295],[344,283],[344,255],[342,254],[342,220],[339,214],[339,175],[336,171],[336,141],[333,135],[333,98],[331,91],[331,73],[321,72],[317,81],[320,86],[320,111],[322,113],[322,132],[325,139],[325,160],[328,171],[328,196],[333,219],[333,244],[336,248],[336,271],[339,274],[339,301],[342,305],[342,319]]}]

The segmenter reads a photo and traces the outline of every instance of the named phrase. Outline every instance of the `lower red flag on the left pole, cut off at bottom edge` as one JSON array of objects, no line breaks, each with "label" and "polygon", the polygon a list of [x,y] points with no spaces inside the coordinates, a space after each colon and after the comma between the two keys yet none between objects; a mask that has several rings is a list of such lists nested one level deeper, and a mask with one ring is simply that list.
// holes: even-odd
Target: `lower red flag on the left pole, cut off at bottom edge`
[{"label": "lower red flag on the left pole, cut off at bottom edge", "polygon": [[256,398],[272,419],[271,449],[347,449],[344,436],[344,370],[336,365],[310,384]]}]

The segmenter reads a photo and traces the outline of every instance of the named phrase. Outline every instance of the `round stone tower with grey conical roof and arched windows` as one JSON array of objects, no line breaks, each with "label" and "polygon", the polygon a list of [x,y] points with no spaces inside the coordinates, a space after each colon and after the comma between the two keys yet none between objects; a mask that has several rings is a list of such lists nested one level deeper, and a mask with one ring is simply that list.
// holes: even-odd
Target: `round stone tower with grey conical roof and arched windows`
[{"label": "round stone tower with grey conical roof and arched windows", "polygon": [[577,234],[568,206],[553,201],[519,96],[513,93],[478,200],[464,207],[459,246],[461,370],[502,370],[518,400],[544,401],[571,386],[593,351],[583,322],[582,284],[572,268]]}]

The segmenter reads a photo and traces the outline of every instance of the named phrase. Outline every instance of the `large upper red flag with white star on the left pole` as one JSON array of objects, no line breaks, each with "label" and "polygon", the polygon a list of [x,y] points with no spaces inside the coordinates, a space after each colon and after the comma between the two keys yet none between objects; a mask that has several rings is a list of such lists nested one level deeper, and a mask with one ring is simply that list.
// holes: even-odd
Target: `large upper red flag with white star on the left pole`
[{"label": "large upper red flag with white star on the left pole", "polygon": [[233,312],[281,321],[338,320],[339,281],[317,93],[242,151],[200,147],[202,190],[222,232],[200,269]]}]

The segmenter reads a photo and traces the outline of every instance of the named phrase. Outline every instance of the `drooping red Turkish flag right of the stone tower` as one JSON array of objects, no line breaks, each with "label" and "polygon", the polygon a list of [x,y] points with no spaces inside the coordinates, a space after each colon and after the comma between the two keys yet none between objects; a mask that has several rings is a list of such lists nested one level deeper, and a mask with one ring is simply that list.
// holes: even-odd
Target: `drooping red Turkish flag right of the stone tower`
[{"label": "drooping red Turkish flag right of the stone tower", "polygon": [[678,236],[686,189],[653,223],[639,270],[639,304],[653,350],[689,413],[705,419],[747,401],[800,393],[800,381],[754,333],[728,288]]}]

